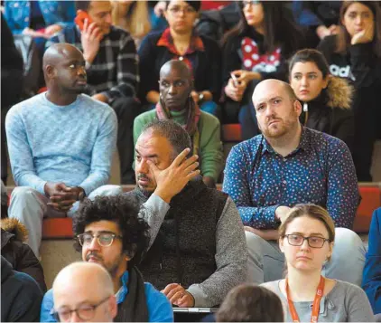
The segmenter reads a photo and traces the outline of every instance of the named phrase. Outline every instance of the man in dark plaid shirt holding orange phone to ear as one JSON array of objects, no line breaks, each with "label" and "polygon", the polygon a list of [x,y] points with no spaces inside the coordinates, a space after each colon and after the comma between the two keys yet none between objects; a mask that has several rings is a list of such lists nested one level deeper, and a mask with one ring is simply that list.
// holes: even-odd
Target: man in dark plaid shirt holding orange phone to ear
[{"label": "man in dark plaid shirt holding orange phone to ear", "polygon": [[136,100],[139,75],[135,43],[129,33],[112,25],[110,1],[76,1],[76,6],[89,17],[83,30],[71,24],[52,37],[47,46],[71,43],[83,52],[88,93],[116,111],[121,182],[135,184],[132,128],[141,112]]}]

